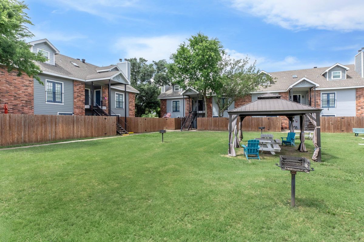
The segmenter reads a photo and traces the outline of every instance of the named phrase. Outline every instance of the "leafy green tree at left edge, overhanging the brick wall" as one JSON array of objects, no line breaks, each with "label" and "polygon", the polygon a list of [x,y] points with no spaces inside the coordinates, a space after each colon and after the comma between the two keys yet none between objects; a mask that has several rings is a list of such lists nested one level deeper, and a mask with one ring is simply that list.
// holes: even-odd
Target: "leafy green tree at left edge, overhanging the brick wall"
[{"label": "leafy green tree at left edge, overhanging the brick wall", "polygon": [[23,1],[0,0],[0,63],[7,66],[8,71],[17,70],[18,76],[23,73],[36,78],[41,70],[33,61],[46,61],[41,53],[34,54],[29,51],[25,38],[34,35],[27,25],[33,25],[24,12],[28,6]]}]

